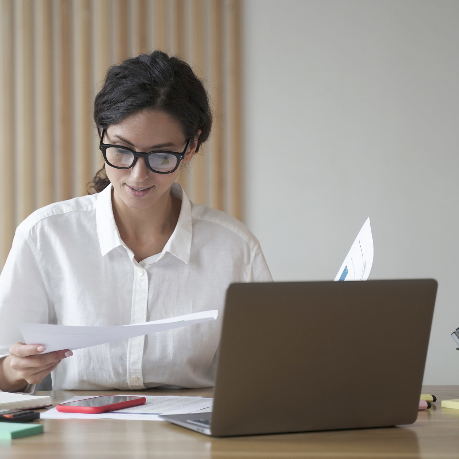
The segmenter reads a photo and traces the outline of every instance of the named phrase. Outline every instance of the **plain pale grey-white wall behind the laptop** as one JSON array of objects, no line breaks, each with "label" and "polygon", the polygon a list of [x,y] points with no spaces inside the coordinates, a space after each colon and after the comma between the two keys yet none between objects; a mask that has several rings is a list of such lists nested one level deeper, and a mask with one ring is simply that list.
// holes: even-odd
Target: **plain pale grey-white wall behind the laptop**
[{"label": "plain pale grey-white wall behind the laptop", "polygon": [[[425,384],[459,384],[459,2],[245,0],[246,223],[275,280],[433,277]],[[396,318],[394,317],[394,320]]]}]

